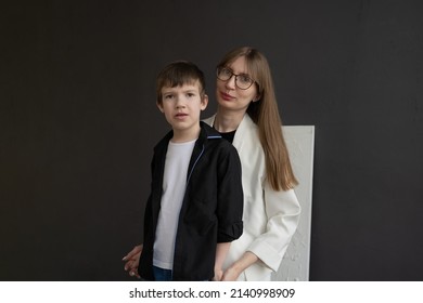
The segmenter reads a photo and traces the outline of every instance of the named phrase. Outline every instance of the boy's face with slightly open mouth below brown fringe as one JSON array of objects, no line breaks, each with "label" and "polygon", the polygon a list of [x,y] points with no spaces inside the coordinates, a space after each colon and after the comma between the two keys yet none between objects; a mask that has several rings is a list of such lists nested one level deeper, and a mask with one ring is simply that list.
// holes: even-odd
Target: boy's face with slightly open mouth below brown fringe
[{"label": "boy's face with slightly open mouth below brown fringe", "polygon": [[162,88],[162,104],[158,109],[175,131],[190,131],[198,128],[201,111],[207,107],[207,95],[200,94],[200,83]]}]

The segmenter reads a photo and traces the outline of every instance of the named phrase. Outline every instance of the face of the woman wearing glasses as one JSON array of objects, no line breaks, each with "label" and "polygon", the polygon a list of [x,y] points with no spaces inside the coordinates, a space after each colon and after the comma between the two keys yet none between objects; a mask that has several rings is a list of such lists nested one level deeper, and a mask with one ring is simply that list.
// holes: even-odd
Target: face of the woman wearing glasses
[{"label": "face of the woman wearing glasses", "polygon": [[[231,69],[234,75],[245,75],[252,78],[244,56],[236,58],[226,67]],[[257,94],[257,85],[254,83],[246,90],[238,88],[235,85],[235,76],[226,81],[217,79],[216,97],[221,109],[244,110],[245,113],[249,103],[258,100]]]}]

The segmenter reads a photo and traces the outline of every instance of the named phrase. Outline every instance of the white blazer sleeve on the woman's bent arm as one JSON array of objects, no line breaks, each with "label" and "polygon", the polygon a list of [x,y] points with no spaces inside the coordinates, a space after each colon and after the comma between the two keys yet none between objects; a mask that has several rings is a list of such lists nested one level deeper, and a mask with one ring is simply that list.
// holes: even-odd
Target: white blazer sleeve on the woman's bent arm
[{"label": "white blazer sleeve on the woman's bent arm", "polygon": [[294,235],[300,214],[300,206],[294,189],[273,190],[264,184],[265,209],[268,216],[266,232],[247,249],[256,254],[270,269],[278,271],[287,246]]}]

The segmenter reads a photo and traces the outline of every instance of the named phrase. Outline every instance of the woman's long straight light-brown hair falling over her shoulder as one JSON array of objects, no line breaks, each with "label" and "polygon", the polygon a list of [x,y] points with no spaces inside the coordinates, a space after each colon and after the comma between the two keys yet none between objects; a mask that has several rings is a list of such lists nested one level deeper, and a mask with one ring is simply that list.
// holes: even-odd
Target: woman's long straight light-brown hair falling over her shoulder
[{"label": "woman's long straight light-brown hair falling over her shoulder", "polygon": [[292,170],[290,155],[282,133],[270,67],[264,54],[244,47],[230,51],[219,63],[228,66],[245,57],[249,76],[256,81],[259,100],[252,102],[247,114],[258,127],[258,136],[266,158],[267,181],[274,190],[287,190],[298,184]]}]

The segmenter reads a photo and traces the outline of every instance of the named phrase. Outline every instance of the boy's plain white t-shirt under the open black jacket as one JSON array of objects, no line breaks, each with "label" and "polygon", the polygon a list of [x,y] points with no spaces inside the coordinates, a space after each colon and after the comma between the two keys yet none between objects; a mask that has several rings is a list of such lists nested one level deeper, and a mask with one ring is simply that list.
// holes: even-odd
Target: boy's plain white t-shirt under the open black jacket
[{"label": "boy's plain white t-shirt under the open black jacket", "polygon": [[195,140],[184,143],[169,142],[165,172],[163,175],[163,196],[154,241],[153,265],[172,269],[175,241],[187,186],[187,172]]}]

